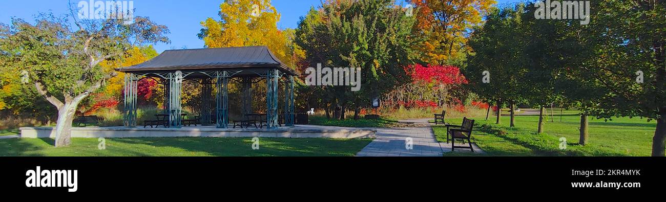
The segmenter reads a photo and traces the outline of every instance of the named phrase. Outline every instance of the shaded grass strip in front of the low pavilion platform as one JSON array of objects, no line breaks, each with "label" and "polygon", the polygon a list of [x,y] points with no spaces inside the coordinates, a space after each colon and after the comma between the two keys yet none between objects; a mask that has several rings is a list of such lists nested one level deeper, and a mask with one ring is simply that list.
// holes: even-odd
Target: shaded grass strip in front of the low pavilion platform
[{"label": "shaded grass strip in front of the low pavilion platform", "polygon": [[49,138],[0,139],[0,156],[353,156],[371,139],[260,138],[72,138],[72,145],[53,147]]}]

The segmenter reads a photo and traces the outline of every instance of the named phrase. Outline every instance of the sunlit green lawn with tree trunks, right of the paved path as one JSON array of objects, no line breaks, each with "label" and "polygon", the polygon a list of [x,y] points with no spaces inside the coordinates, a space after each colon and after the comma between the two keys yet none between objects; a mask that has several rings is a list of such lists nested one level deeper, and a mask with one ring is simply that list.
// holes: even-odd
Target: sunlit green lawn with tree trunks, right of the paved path
[{"label": "sunlit green lawn with tree trunks, right of the paved path", "polygon": [[[488,155],[583,155],[583,156],[649,156],[652,136],[655,132],[654,121],[641,118],[613,118],[608,122],[590,118],[589,140],[586,146],[578,145],[580,117],[576,111],[565,110],[561,116],[555,112],[555,122],[545,123],[543,134],[535,134],[539,116],[515,116],[515,128],[509,128],[509,117],[502,116],[500,126],[494,117],[488,121],[474,118],[474,142]],[[550,119],[550,116],[549,116]],[[447,122],[460,124],[460,119]],[[482,127],[486,124],[486,127]],[[505,135],[497,135],[498,131]],[[446,141],[446,129],[434,127],[438,140]],[[567,139],[567,149],[559,150],[559,138]],[[451,153],[447,155],[478,155],[470,153]]]}]

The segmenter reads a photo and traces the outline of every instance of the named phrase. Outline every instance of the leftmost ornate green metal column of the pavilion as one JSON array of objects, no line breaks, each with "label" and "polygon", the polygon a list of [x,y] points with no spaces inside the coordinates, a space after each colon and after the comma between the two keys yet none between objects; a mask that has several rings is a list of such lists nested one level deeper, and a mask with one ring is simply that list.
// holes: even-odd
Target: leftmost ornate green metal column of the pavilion
[{"label": "leftmost ornate green metal column of the pavilion", "polygon": [[123,126],[132,128],[137,126],[137,85],[139,77],[136,74],[125,74],[125,104],[123,112]]}]

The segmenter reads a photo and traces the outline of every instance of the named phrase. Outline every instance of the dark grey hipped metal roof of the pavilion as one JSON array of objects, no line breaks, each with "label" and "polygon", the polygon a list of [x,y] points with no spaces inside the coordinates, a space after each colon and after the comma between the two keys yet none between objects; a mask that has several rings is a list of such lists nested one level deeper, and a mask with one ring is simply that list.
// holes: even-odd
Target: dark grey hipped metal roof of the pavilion
[{"label": "dark grey hipped metal roof of the pavilion", "polygon": [[286,74],[299,75],[282,63],[266,46],[165,50],[151,60],[117,70],[151,72],[214,68],[277,68]]}]

